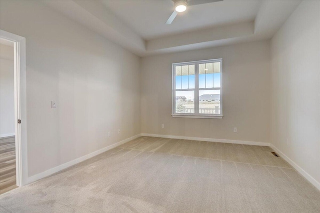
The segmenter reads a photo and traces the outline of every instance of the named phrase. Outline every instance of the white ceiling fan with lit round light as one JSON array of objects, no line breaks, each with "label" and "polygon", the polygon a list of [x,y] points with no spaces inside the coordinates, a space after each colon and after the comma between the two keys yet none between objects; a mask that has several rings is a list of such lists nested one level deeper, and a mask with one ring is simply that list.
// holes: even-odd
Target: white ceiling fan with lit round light
[{"label": "white ceiling fan with lit round light", "polygon": [[175,16],[179,12],[184,12],[186,10],[187,6],[197,5],[197,4],[203,4],[203,3],[211,3],[216,1],[222,1],[222,0],[172,0],[174,2],[174,11],[168,18],[168,20],[165,22],[166,24],[172,23]]}]

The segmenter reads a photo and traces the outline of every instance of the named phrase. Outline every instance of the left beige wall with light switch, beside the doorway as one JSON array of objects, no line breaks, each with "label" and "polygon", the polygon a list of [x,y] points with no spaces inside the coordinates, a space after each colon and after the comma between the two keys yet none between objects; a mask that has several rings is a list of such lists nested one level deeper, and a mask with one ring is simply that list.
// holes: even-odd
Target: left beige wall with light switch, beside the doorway
[{"label": "left beige wall with light switch, beside the doorway", "polygon": [[0,27],[26,38],[29,177],[141,132],[139,57],[40,1],[1,0]]}]

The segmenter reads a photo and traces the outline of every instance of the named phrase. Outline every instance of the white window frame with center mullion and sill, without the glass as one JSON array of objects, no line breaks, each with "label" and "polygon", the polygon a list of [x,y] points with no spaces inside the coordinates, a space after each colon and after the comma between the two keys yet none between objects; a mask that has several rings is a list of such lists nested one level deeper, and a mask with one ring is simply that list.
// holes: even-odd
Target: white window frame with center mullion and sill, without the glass
[{"label": "white window frame with center mullion and sill, without the glass", "polygon": [[[199,89],[199,66],[201,63],[220,62],[220,87],[200,88]],[[175,67],[194,64],[194,89],[175,89]],[[220,114],[199,114],[199,91],[201,90],[220,90]],[[175,113],[175,92],[194,91],[194,113]],[[172,63],[172,117],[173,118],[213,118],[222,119],[222,58],[189,61],[182,63]]]}]

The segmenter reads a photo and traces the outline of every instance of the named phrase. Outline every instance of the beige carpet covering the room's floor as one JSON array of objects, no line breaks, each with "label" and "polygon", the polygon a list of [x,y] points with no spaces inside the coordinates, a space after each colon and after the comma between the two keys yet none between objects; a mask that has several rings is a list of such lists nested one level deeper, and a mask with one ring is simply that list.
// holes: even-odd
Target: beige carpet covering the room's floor
[{"label": "beige carpet covering the room's floor", "polygon": [[140,137],[0,196],[1,213],[319,213],[269,147]]}]

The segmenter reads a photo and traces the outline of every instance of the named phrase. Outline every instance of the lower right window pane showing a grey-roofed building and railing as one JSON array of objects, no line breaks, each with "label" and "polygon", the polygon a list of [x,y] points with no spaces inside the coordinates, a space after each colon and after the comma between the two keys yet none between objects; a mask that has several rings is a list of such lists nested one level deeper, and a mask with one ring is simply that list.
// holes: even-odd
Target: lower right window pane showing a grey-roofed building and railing
[{"label": "lower right window pane showing a grey-roofed building and railing", "polygon": [[220,114],[220,90],[199,91],[199,114]]}]

